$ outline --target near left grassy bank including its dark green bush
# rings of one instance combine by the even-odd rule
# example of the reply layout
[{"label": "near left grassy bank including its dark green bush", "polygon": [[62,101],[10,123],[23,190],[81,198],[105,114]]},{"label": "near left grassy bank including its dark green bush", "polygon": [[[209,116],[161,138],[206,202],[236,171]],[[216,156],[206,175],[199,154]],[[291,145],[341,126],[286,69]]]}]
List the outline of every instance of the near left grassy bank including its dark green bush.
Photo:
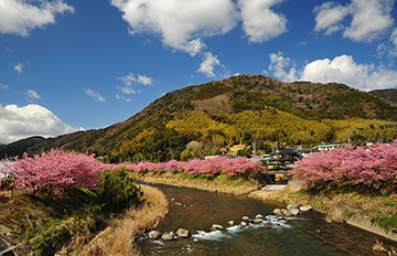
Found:
[{"label": "near left grassy bank including its dark green bush", "polygon": [[[168,212],[157,189],[104,172],[97,191],[0,194],[0,236],[19,255],[133,255],[133,238]],[[128,178],[129,180],[130,178]],[[117,183],[115,183],[117,182]],[[122,183],[125,182],[125,183]],[[121,185],[120,185],[121,184]]]}]

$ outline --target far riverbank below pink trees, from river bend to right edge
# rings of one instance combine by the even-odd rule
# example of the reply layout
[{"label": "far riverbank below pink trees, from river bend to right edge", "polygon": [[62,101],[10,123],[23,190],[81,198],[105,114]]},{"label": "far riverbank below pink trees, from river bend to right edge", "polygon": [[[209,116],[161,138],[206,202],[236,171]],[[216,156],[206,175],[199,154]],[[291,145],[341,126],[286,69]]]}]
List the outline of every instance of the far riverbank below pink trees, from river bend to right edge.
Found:
[{"label": "far riverbank below pink trees, from river bend to right edge", "polygon": [[283,190],[260,190],[262,186],[255,180],[230,182],[227,179],[195,180],[185,179],[182,173],[132,173],[135,179],[144,182],[164,183],[187,186],[212,192],[247,194],[262,201],[277,201],[286,204],[312,205],[314,211],[325,214],[326,223],[347,223],[368,232],[397,242],[397,234],[386,217],[397,215],[397,195],[369,195],[358,193],[309,194],[301,190],[302,182],[289,182]]}]

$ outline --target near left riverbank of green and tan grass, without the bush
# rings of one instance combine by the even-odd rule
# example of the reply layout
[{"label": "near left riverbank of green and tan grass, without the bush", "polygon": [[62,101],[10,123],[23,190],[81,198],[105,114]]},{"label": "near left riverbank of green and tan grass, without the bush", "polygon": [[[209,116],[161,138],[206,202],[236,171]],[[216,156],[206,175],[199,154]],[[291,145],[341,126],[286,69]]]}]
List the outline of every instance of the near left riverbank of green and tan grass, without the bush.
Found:
[{"label": "near left riverbank of green and tan grass, without the bush", "polygon": [[42,255],[37,248],[45,248],[45,255],[139,255],[135,237],[154,228],[168,213],[161,191],[140,188],[143,196],[137,207],[109,215],[79,192],[61,201],[47,195],[2,195],[0,238],[14,246],[18,255]]}]

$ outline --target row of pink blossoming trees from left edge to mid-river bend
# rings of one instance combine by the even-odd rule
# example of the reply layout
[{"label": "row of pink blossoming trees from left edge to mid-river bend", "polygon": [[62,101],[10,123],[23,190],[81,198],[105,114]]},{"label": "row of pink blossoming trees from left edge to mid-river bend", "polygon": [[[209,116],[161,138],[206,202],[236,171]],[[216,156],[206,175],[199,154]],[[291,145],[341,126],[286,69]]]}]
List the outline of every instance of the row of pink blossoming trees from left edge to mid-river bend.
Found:
[{"label": "row of pink blossoming trees from left edge to mid-river bend", "polygon": [[[30,158],[3,160],[0,172],[10,177],[11,186],[17,190],[46,192],[62,195],[64,191],[78,189],[96,190],[100,185],[98,177],[105,170],[114,170],[122,164],[105,164],[94,154],[53,149]],[[169,162],[127,164],[129,171],[185,171],[192,177],[214,178],[219,174],[237,177],[265,172],[265,167],[248,161],[246,158],[228,159],[225,157],[189,162],[171,160]],[[1,186],[1,180],[0,180]]]}]

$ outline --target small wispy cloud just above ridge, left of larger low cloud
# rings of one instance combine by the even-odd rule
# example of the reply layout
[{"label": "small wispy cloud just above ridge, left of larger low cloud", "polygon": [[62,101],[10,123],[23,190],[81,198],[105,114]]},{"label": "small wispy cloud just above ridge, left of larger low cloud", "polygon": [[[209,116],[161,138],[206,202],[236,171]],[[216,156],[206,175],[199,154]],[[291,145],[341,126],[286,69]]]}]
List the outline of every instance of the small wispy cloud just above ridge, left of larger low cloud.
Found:
[{"label": "small wispy cloud just above ridge, left of larger low cloud", "polygon": [[[288,72],[286,68],[292,66]],[[293,82],[297,81],[297,70],[294,64],[291,62],[289,57],[283,57],[281,52],[270,53],[270,64],[268,66],[269,71],[273,73],[273,75],[283,81],[283,82]],[[266,71],[264,71],[266,73]]]}]

